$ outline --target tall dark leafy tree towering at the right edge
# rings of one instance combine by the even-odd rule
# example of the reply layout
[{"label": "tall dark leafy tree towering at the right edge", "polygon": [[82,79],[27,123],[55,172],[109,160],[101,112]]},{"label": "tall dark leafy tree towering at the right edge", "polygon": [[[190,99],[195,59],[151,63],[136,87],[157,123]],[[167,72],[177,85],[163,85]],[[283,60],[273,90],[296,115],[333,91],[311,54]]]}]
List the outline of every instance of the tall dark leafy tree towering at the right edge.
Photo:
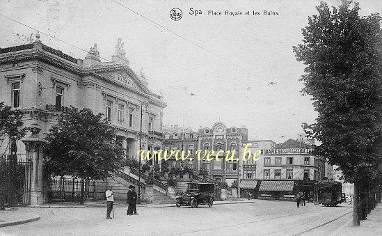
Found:
[{"label": "tall dark leafy tree towering at the right edge", "polygon": [[345,0],[338,9],[321,2],[317,10],[303,29],[303,43],[294,47],[307,65],[302,93],[312,96],[319,113],[317,123],[304,128],[322,143],[316,155],[354,183],[353,226],[359,226],[360,188],[381,173],[381,17],[360,17],[358,3],[351,8]]}]

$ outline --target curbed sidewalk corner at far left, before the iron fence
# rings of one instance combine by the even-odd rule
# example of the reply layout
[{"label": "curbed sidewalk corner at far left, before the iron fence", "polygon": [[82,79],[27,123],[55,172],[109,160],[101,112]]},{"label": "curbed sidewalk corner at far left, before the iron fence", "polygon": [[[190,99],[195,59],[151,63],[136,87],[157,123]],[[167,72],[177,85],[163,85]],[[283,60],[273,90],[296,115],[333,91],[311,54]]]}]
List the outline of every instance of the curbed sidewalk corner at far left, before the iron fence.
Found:
[{"label": "curbed sidewalk corner at far left, before the iron fence", "polygon": [[23,210],[0,211],[0,228],[38,221],[39,219],[37,214],[25,213]]}]

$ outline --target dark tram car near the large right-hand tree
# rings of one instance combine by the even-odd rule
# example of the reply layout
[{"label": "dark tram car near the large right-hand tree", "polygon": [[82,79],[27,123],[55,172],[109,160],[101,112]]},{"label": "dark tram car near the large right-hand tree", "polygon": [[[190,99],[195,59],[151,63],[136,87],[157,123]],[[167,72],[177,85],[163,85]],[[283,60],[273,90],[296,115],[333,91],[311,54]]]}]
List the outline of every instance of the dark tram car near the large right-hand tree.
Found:
[{"label": "dark tram car near the large right-hand tree", "polygon": [[315,203],[334,207],[342,203],[342,183],[321,181],[315,184]]}]

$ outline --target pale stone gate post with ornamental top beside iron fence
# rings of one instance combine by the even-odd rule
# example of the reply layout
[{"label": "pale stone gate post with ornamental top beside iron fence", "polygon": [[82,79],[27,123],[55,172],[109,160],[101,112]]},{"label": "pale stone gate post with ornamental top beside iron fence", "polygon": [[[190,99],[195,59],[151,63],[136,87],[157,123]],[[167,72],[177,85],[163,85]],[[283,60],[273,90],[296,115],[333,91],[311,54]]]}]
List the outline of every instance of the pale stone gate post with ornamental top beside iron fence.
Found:
[{"label": "pale stone gate post with ornamental top beside iron fence", "polygon": [[35,126],[29,128],[32,133],[31,136],[22,141],[25,144],[26,160],[32,162],[31,172],[28,173],[31,180],[31,189],[29,189],[31,205],[42,205],[45,202],[42,194],[44,184],[42,180],[42,162],[45,156],[43,144],[45,141],[38,136],[41,129],[36,127],[36,124],[32,125]]}]

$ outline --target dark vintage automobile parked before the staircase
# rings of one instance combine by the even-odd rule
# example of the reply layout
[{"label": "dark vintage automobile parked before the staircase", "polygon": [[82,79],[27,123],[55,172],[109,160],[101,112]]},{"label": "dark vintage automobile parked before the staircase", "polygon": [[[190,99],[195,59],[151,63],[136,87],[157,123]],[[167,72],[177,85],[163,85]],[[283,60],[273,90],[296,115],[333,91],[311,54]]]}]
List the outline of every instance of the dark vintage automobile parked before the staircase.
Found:
[{"label": "dark vintage automobile parked before the staircase", "polygon": [[187,183],[187,191],[178,194],[177,207],[181,205],[191,205],[192,208],[198,205],[208,205],[212,207],[214,204],[214,184],[209,183]]}]

